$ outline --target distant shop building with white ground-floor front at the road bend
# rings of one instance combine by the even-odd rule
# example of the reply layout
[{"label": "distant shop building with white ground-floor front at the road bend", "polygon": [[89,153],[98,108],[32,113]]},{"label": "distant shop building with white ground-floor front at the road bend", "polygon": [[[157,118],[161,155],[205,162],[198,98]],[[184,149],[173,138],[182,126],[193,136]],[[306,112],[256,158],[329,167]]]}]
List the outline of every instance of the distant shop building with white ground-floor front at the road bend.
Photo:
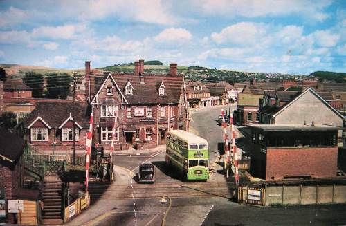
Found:
[{"label": "distant shop building with white ground-floor front at the road bend", "polygon": [[212,96],[203,82],[186,82],[186,97],[192,109],[219,105],[219,96]]}]

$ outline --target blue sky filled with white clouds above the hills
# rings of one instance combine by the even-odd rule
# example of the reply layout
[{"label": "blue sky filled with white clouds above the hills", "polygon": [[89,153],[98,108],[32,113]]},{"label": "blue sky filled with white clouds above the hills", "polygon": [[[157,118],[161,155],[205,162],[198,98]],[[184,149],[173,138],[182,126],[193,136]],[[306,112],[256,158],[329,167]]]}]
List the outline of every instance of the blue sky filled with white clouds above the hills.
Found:
[{"label": "blue sky filled with white clouds above the hills", "polygon": [[346,73],[346,1],[0,0],[0,64]]}]

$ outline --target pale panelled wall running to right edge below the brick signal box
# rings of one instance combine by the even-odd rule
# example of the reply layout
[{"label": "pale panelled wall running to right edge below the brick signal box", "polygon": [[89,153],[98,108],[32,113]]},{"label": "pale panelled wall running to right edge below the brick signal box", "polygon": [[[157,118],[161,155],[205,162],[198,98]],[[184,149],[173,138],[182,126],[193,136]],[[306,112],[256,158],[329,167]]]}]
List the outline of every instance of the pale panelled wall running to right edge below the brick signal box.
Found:
[{"label": "pale panelled wall running to right edge below the brick signal box", "polygon": [[346,203],[346,185],[295,185],[266,187],[265,205]]}]

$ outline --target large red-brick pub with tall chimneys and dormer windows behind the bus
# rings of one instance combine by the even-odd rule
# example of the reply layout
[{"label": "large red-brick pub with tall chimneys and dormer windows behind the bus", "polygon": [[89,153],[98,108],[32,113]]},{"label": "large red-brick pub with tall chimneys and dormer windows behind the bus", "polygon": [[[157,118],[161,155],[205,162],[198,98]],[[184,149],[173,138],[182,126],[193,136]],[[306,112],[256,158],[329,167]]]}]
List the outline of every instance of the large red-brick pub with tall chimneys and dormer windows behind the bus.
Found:
[{"label": "large red-brick pub with tall chimneys and dormer windows behind the bus", "polygon": [[165,144],[170,129],[186,129],[184,77],[170,64],[168,75],[144,73],[144,60],[135,62],[133,74],[90,73],[86,62],[86,99],[94,113],[95,144],[110,149],[137,149]]}]

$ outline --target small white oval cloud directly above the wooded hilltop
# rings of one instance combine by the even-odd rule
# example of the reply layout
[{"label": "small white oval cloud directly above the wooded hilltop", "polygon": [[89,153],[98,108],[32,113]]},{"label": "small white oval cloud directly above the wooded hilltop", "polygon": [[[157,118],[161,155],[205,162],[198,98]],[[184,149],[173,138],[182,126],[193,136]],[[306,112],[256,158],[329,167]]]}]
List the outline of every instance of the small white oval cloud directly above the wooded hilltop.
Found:
[{"label": "small white oval cloud directly above the wooded hilltop", "polygon": [[191,33],[184,28],[167,28],[154,37],[157,42],[170,44],[185,44],[191,39]]}]

